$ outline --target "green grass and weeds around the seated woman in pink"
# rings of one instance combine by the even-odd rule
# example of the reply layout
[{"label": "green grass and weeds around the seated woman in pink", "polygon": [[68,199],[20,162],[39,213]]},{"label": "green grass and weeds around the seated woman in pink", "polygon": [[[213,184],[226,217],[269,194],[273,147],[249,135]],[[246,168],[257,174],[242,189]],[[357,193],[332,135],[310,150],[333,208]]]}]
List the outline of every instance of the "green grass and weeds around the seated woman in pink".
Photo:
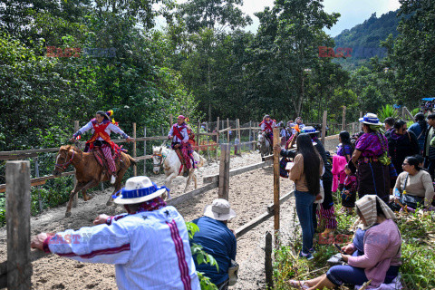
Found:
[{"label": "green grass and weeds around the seated woman in pink", "polygon": [[[334,197],[335,212],[338,227],[337,235],[353,234],[350,228],[356,221],[356,214],[347,216],[340,213],[342,208],[338,198]],[[396,219],[397,226],[401,230],[403,244],[401,247],[401,284],[403,289],[434,289],[435,288],[435,223],[434,213],[414,213],[400,215]],[[319,228],[322,230],[322,228]],[[294,228],[295,237],[289,245],[281,245],[275,249],[274,282],[275,290],[291,289],[285,282],[289,279],[306,280],[326,273],[328,264],[326,261],[337,253],[333,245],[316,244],[314,259],[306,261],[298,259],[296,253],[302,247],[302,235],[300,227]],[[338,244],[341,240],[335,238]],[[342,286],[341,289],[347,289]]]}]

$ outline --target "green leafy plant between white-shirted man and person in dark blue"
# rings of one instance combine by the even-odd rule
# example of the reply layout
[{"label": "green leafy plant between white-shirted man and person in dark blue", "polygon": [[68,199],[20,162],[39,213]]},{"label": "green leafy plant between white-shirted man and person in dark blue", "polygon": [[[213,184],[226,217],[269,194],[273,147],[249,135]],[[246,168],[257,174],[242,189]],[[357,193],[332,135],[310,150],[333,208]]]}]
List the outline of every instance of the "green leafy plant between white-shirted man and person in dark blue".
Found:
[{"label": "green leafy plant between white-shirted man and person in dark blue", "polygon": [[[216,259],[206,253],[201,246],[191,242],[193,236],[195,236],[195,233],[199,231],[199,227],[192,222],[186,222],[186,227],[188,227],[190,251],[192,252],[192,256],[194,258],[197,258],[198,265],[207,263],[210,266],[216,266],[216,268],[219,270],[218,262],[216,261]],[[218,287],[210,281],[210,278],[208,276],[204,275],[204,273],[202,272],[197,272],[197,274],[202,290],[218,290]]]}]

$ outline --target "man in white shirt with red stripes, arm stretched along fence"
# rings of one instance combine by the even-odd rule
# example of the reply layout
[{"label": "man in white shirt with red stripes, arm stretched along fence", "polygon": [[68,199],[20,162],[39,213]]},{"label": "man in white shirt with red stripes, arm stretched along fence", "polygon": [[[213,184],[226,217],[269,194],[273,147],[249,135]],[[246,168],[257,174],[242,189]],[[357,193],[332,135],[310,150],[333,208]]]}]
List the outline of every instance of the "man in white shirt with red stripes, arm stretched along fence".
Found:
[{"label": "man in white shirt with red stripes, arm stretched along fence", "polygon": [[100,215],[94,227],[39,234],[32,247],[81,262],[115,264],[119,289],[199,290],[188,230],[177,209],[160,198],[166,191],[148,177],[128,179],[114,199],[127,214]]}]

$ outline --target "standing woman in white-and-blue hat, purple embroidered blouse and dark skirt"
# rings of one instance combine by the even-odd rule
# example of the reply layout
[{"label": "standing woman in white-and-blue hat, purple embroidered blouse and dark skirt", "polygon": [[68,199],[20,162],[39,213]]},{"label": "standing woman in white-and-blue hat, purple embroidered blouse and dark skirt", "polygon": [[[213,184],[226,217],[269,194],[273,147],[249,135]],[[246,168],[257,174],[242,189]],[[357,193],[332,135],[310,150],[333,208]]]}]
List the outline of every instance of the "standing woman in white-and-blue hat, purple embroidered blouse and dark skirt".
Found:
[{"label": "standing woman in white-and-blue hat, purple embroidered blouse and dark skirt", "polygon": [[352,161],[358,167],[358,196],[375,194],[389,201],[390,169],[388,142],[382,135],[378,116],[367,113],[360,119],[364,133],[357,140]]}]

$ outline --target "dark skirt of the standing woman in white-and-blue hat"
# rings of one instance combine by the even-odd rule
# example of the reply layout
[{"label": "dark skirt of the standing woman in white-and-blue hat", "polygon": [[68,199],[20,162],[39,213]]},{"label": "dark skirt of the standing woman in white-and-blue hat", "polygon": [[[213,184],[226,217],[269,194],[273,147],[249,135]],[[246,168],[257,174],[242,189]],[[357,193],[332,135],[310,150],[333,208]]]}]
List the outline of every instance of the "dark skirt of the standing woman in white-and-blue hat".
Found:
[{"label": "dark skirt of the standing woman in white-and-blue hat", "polygon": [[390,196],[390,169],[379,161],[359,162],[358,196],[375,194],[388,202]]}]

